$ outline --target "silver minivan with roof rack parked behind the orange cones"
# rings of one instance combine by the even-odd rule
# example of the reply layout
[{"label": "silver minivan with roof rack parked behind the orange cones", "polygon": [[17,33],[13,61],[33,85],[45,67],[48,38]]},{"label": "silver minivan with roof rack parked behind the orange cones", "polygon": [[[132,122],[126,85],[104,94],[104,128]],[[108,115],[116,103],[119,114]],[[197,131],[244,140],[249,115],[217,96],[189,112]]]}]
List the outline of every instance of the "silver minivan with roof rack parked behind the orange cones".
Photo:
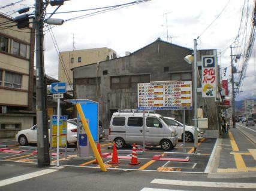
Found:
[{"label": "silver minivan with roof rack parked behind the orange cones", "polygon": [[[176,146],[178,137],[176,128],[167,125],[165,119],[156,113],[146,113],[145,144],[160,145],[163,150]],[[129,144],[143,144],[143,113],[116,112],[110,121],[109,140],[115,141],[121,149]]]}]

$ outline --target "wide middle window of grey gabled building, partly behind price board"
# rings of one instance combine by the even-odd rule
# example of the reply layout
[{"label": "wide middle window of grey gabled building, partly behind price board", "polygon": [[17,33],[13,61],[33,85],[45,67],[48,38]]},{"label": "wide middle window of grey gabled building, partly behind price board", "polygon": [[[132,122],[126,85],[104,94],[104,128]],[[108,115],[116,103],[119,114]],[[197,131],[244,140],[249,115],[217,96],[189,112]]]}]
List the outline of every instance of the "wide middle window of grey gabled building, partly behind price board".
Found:
[{"label": "wide middle window of grey gabled building, partly behind price board", "polygon": [[112,76],[111,89],[137,88],[138,83],[150,82],[150,75]]}]

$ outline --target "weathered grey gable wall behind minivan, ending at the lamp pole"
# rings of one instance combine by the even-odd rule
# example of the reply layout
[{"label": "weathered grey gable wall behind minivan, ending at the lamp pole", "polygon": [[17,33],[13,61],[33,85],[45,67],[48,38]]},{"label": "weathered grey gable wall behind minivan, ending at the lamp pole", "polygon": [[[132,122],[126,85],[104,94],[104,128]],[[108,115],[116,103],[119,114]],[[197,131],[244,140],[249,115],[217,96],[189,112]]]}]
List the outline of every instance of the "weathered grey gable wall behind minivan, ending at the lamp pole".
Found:
[{"label": "weathered grey gable wall behind minivan, ending at the lamp pole", "polygon": [[[88,98],[100,102],[100,118],[104,128],[109,127],[112,112],[118,109],[137,108],[137,84],[129,88],[113,89],[111,80],[116,76],[144,75],[149,76],[148,81],[170,81],[174,73],[192,72],[191,65],[183,60],[192,50],[156,41],[135,53],[115,60],[89,64],[73,69],[75,91],[77,98]],[[168,71],[164,67],[168,67]],[[98,83],[85,79],[95,78],[98,70]],[[106,74],[107,71],[107,74]],[[105,75],[103,74],[105,73]],[[191,80],[191,79],[190,79]],[[98,88],[97,88],[98,84]],[[98,91],[97,91],[98,90]],[[182,120],[182,111],[159,110],[165,116],[174,116]],[[191,111],[186,112],[186,119],[191,123]]]}]

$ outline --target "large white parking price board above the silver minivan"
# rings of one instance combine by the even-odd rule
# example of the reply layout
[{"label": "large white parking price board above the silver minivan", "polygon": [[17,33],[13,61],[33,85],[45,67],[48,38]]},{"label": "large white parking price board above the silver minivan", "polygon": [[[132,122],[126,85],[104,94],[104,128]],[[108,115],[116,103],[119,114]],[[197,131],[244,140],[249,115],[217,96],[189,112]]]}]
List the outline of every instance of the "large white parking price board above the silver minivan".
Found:
[{"label": "large white parking price board above the silver minivan", "polygon": [[165,81],[138,84],[140,110],[191,110],[192,82]]}]

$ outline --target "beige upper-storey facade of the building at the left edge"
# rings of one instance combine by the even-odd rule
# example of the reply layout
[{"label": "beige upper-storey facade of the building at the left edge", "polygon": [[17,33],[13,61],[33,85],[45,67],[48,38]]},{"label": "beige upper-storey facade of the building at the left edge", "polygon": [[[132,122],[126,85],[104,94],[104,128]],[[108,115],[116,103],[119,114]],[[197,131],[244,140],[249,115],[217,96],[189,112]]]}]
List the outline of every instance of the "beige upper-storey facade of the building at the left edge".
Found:
[{"label": "beige upper-storey facade of the building at the left edge", "polygon": [[[0,22],[10,21],[8,17],[2,16],[0,14]],[[16,23],[11,23],[16,24]],[[9,23],[10,25],[10,23]],[[34,51],[31,51],[31,43],[34,47],[34,38],[33,30],[31,29],[17,29],[13,27],[12,29],[1,29],[0,36],[1,38],[6,39],[7,48],[4,50],[0,50],[1,61],[0,61],[0,72],[2,77],[0,79],[0,106],[22,106],[27,110],[29,107],[29,103],[32,103],[32,92],[29,87],[29,79],[32,78],[30,73],[31,67],[33,67],[34,63]],[[19,32],[21,31],[21,32]],[[32,34],[33,33],[33,34]],[[25,50],[23,53],[19,51],[19,55],[14,53],[15,45],[19,45],[20,50]],[[19,85],[7,85],[7,73],[15,73],[15,75],[19,75],[21,81],[19,81]],[[29,93],[31,94],[29,96]]]}]

